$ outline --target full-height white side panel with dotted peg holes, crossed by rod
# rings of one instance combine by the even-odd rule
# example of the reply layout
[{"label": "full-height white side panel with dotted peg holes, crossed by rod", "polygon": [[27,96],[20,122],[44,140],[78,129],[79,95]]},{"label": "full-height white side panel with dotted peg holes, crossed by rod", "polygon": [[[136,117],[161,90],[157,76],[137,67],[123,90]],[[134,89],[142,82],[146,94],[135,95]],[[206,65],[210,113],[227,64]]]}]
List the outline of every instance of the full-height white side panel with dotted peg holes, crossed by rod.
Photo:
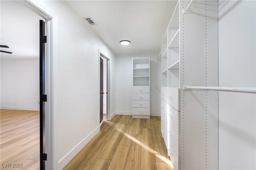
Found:
[{"label": "full-height white side panel with dotted peg holes, crossed by rod", "polygon": [[[218,1],[180,1],[180,87],[218,86]],[[218,169],[218,93],[180,92],[180,169]],[[184,144],[184,145],[183,145]]]}]

